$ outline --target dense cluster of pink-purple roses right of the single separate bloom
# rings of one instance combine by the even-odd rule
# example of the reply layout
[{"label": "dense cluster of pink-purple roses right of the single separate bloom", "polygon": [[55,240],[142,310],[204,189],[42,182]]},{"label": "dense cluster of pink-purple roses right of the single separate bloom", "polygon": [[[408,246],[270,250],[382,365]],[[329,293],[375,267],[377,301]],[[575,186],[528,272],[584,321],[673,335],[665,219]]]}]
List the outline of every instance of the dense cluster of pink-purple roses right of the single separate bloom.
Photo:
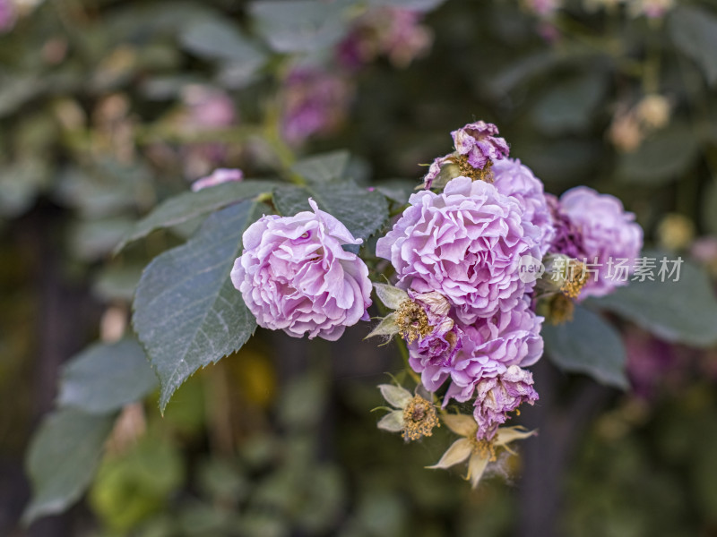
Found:
[{"label": "dense cluster of pink-purple roses right of the single separate bloom", "polygon": [[[642,231],[617,199],[584,187],[547,197],[530,168],[507,158],[497,134],[484,122],[452,132],[455,152],[436,158],[426,190],[376,244],[396,286],[426,313],[429,328],[409,339],[410,366],[431,391],[448,383],[444,405],[472,399],[478,439],[488,441],[508,413],[538,398],[524,368],[543,352],[543,318],[534,312],[535,282],[520,277],[521,259],[635,259],[642,246]],[[436,183],[443,192],[429,190]],[[586,294],[615,285],[600,274]]]}]

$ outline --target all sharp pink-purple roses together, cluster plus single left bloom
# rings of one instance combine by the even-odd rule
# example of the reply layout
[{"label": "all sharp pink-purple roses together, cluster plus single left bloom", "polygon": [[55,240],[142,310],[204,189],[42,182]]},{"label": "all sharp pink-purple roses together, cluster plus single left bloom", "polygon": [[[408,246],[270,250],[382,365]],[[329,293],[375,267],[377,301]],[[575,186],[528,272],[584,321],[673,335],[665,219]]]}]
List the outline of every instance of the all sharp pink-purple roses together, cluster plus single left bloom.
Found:
[{"label": "all sharp pink-purple roses together, cluster plus single left bloom", "polygon": [[[484,122],[452,132],[454,153],[436,159],[425,189],[376,243],[408,297],[395,319],[410,367],[428,390],[446,387],[444,405],[472,401],[477,438],[488,442],[508,413],[538,399],[525,368],[542,355],[544,319],[535,281],[520,277],[523,258],[634,260],[642,247],[641,228],[617,199],[584,187],[559,200],[545,194],[497,134]],[[342,248],[361,240],[309,203],[313,211],[249,226],[231,279],[259,326],[335,340],[367,320],[369,271]],[[599,273],[581,286],[602,295],[619,283]]]}]

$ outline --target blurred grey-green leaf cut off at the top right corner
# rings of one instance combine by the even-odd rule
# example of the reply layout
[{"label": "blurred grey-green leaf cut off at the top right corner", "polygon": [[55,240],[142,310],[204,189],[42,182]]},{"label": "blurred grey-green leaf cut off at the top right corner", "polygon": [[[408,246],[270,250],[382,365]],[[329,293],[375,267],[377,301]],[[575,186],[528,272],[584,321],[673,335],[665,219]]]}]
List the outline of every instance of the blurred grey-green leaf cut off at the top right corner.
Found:
[{"label": "blurred grey-green leaf cut off at the top right corner", "polygon": [[668,29],[675,47],[692,58],[714,86],[717,83],[717,17],[695,5],[680,6],[669,16]]}]

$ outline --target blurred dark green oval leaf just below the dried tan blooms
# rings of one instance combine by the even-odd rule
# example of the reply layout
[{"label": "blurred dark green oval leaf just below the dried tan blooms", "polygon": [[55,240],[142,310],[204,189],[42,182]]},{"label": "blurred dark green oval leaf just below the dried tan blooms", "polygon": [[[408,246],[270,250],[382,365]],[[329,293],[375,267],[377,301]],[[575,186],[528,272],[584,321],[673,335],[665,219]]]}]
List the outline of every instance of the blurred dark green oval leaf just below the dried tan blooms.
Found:
[{"label": "blurred dark green oval leaf just below the dried tan blooms", "polygon": [[661,186],[677,179],[695,161],[699,144],[687,125],[670,125],[618,160],[624,183]]}]

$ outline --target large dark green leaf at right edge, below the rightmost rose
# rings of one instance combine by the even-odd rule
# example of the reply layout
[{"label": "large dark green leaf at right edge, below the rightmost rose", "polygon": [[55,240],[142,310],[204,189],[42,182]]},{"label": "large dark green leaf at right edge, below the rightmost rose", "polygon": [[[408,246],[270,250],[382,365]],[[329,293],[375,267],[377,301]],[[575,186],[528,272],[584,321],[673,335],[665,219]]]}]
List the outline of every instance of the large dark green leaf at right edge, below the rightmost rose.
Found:
[{"label": "large dark green leaf at right edge, below the rightmost rose", "polygon": [[[657,258],[660,268],[661,254],[646,252],[644,256]],[[695,346],[717,343],[717,300],[707,275],[684,261],[679,280],[666,279],[630,282],[608,296],[592,299],[592,303],[667,341]]]}]

